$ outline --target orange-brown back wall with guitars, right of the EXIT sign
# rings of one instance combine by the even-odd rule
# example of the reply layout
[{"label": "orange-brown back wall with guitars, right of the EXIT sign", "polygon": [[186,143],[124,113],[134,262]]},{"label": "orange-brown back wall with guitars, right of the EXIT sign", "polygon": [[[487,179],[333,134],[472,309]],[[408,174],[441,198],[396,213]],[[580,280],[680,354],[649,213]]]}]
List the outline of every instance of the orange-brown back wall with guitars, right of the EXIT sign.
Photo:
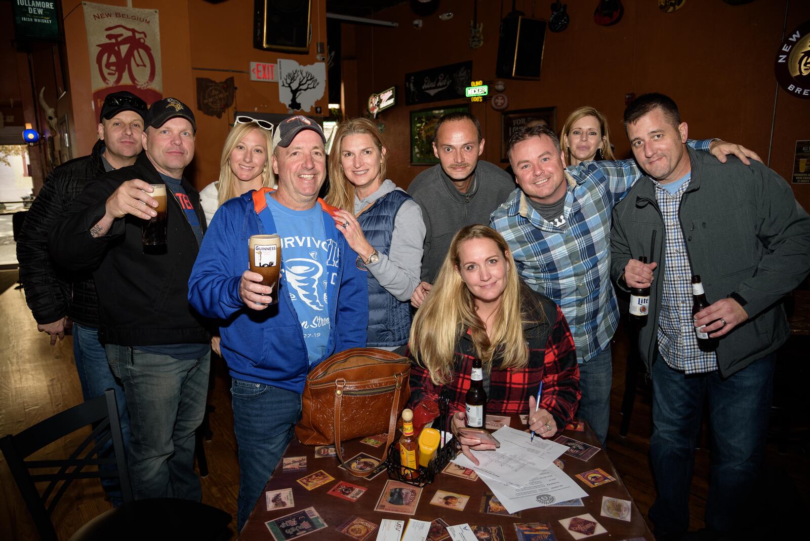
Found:
[{"label": "orange-brown back wall with guitars, right of the EXIT sign", "polygon": [[[657,2],[624,0],[624,18],[612,27],[594,23],[595,1],[567,2],[571,23],[564,32],[547,33],[541,80],[505,80],[509,110],[556,106],[559,130],[573,109],[592,105],[608,117],[616,154],[629,157],[621,126],[625,94],[664,92],[678,103],[690,137],[744,143],[764,160],[774,120],[770,167],[790,179],[795,141],[810,139],[810,100],[776,89],[774,61],[782,40],[786,1],[759,0],[744,6],[720,0],[693,1],[665,14]],[[531,16],[531,4],[518,0],[518,10]],[[550,15],[548,2],[535,2],[535,6],[538,18]],[[353,40],[344,38],[343,44],[356,53],[356,60],[343,55],[344,67],[356,69],[357,74],[356,95],[347,96],[347,114],[363,113],[360,108],[370,93],[399,85],[401,104],[378,117],[386,126],[391,150],[389,176],[399,185],[407,186],[424,169],[409,163],[408,123],[409,109],[428,107],[404,106],[403,75],[471,59],[475,79],[495,77],[501,2],[479,0],[478,7],[479,21],[484,22],[480,49],[467,45],[471,2],[442,0],[437,13],[454,11],[454,18],[443,22],[437,15],[425,17],[421,30],[413,28],[411,22],[417,17],[407,3],[376,15],[398,22],[399,28],[343,25],[344,36],[355,34]],[[810,2],[791,0],[787,32],[808,19]],[[489,102],[471,104],[471,112],[484,128],[483,159],[500,164],[501,113]],[[799,202],[810,209],[810,186],[793,188]]]}]

